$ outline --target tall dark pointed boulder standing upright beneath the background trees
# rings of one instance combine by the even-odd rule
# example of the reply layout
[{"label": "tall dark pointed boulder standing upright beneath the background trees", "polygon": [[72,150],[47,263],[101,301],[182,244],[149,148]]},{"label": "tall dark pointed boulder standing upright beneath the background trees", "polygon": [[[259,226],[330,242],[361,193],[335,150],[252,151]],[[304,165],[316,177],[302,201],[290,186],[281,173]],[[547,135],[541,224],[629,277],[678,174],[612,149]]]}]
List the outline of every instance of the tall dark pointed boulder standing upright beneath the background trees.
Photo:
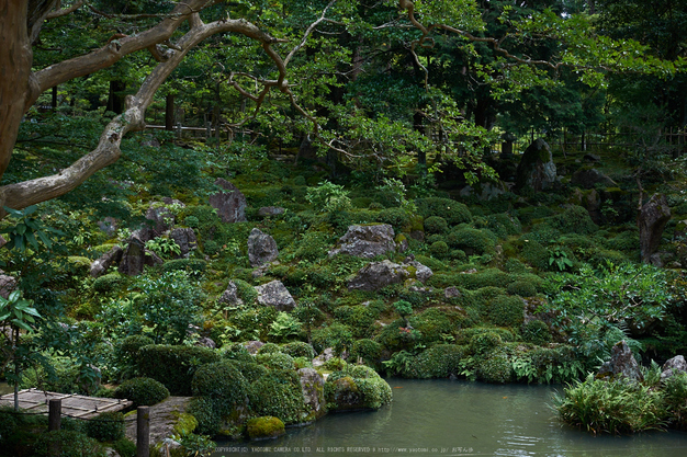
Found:
[{"label": "tall dark pointed boulder standing upright beneath the background trees", "polygon": [[551,187],[558,180],[551,148],[541,138],[532,142],[522,153],[516,173],[516,192],[532,187],[536,192]]}]

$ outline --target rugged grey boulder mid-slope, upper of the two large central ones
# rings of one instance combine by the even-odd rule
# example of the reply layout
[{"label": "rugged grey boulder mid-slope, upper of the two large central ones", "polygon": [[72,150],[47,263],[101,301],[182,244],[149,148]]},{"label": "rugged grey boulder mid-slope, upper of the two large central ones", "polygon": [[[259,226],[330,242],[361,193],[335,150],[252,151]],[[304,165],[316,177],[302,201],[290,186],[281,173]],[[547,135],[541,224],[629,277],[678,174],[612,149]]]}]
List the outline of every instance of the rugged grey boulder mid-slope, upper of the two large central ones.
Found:
[{"label": "rugged grey boulder mid-slope, upper of the two large central ones", "polygon": [[329,255],[346,253],[357,258],[372,259],[396,250],[394,229],[388,224],[350,226],[339,239],[339,247]]}]

